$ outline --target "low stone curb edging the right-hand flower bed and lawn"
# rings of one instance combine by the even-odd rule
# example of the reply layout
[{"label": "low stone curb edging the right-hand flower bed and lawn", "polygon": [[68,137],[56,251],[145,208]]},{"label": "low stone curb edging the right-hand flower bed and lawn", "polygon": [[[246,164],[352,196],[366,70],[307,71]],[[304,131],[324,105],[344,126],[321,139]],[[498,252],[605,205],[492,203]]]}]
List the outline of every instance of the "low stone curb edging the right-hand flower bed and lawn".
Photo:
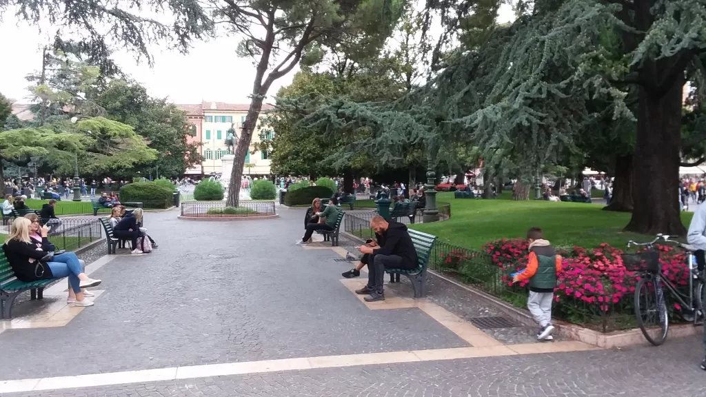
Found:
[{"label": "low stone curb edging the right-hand flower bed and lawn", "polygon": [[[361,243],[364,242],[363,239],[351,235],[348,232],[343,231],[342,233],[344,233],[349,239],[353,239],[354,241]],[[509,316],[515,321],[520,322],[520,324],[524,324],[526,326],[537,326],[537,323],[534,321],[532,315],[527,310],[514,307],[511,304],[498,300],[498,298],[493,297],[492,295],[489,295],[486,292],[476,290],[472,287],[459,283],[456,280],[452,280],[446,277],[445,275],[438,273],[437,271],[433,271],[431,269],[427,269],[427,271],[429,271],[429,273],[435,275],[436,277],[447,281],[448,283],[452,283],[457,287],[463,288],[467,292],[470,292],[472,295],[474,295],[474,297],[477,297],[479,300],[484,301],[484,303],[486,304],[490,304],[493,307],[496,307],[498,310],[503,312],[503,314]],[[578,340],[579,342],[598,346],[599,348],[623,348],[632,345],[649,345],[649,342],[647,342],[645,336],[642,335],[642,331],[640,331],[640,328],[633,328],[626,331],[613,331],[609,333],[602,333],[599,331],[594,331],[590,328],[579,326],[577,324],[571,324],[566,321],[554,321],[554,326],[556,326],[556,332],[558,332],[559,335],[563,336],[564,338]],[[672,336],[673,338],[681,338],[683,336],[696,335],[699,333],[699,328],[702,327],[695,327],[693,326],[693,324],[670,325],[669,336]]]}]

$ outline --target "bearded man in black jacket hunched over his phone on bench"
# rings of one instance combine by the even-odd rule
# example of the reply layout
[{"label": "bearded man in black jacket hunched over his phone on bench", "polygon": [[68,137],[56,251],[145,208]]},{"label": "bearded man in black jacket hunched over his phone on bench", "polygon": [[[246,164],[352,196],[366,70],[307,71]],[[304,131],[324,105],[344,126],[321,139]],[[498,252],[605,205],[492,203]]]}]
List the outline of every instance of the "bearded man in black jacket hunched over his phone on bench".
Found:
[{"label": "bearded man in black jacket hunched over his phone on bench", "polygon": [[369,255],[368,285],[356,290],[358,295],[370,295],[364,298],[366,302],[385,300],[383,280],[385,268],[409,269],[417,268],[417,250],[414,249],[412,237],[409,237],[407,226],[399,222],[388,222],[380,215],[373,216],[370,227],[380,235],[379,247],[364,245],[358,250]]}]

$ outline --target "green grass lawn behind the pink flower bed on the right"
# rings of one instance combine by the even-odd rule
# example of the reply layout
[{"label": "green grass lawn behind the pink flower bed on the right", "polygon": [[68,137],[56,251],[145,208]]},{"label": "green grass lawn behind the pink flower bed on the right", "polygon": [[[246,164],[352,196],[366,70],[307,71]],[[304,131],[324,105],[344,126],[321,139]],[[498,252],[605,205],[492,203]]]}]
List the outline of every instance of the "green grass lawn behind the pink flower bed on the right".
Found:
[{"label": "green grass lawn behind the pink flower bed on the right", "polygon": [[[505,193],[505,192],[503,192]],[[507,192],[509,193],[509,192]],[[650,241],[652,237],[623,232],[629,213],[602,211],[602,205],[556,203],[553,201],[474,200],[453,198],[453,192],[436,195],[438,201],[451,203],[451,218],[438,223],[414,225],[422,232],[437,235],[443,241],[478,249],[503,237],[525,237],[532,226],[542,227],[544,237],[555,246],[597,247],[607,242],[624,247],[628,240]],[[682,213],[688,227],[692,213]]]}]

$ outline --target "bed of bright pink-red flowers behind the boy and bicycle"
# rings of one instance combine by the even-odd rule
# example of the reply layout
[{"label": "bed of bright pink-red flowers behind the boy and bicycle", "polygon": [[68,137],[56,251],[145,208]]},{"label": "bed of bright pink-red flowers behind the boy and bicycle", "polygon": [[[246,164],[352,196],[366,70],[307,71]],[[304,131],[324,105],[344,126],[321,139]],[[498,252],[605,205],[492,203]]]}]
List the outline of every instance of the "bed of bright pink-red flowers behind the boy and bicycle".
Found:
[{"label": "bed of bright pink-red flowers behind the boy and bicycle", "polygon": [[[523,239],[489,242],[481,251],[441,243],[434,268],[455,273],[475,288],[517,307],[526,307],[529,281],[513,284],[510,273],[527,265],[527,247]],[[687,286],[686,255],[673,247],[658,249],[664,277],[678,287]],[[634,292],[639,276],[623,266],[621,249],[601,244],[595,249],[556,247],[556,250],[563,261],[554,290],[554,316],[602,332],[636,327]],[[664,296],[671,320],[682,321],[678,304],[671,302],[668,294]]]}]

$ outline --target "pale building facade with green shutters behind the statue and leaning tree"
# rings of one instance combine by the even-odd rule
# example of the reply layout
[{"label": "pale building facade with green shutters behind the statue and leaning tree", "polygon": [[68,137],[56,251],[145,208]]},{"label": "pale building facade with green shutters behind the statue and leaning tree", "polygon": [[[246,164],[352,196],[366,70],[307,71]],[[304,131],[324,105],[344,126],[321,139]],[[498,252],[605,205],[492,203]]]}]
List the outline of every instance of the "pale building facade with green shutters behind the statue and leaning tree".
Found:
[{"label": "pale building facade with green shutters behind the statue and leaning tree", "polygon": [[[199,151],[204,160],[201,165],[186,170],[186,174],[220,174],[222,172],[221,158],[227,153],[225,139],[231,126],[237,137],[243,132],[243,124],[248,114],[249,105],[239,105],[225,102],[201,102],[201,105],[177,105],[186,112],[194,129],[188,140],[201,143]],[[263,105],[263,112],[272,109]],[[243,174],[269,175],[270,156],[267,151],[259,150],[261,141],[261,124],[258,121],[250,141],[248,154],[243,164]],[[267,132],[266,134],[272,134]],[[271,138],[271,137],[269,137]],[[237,138],[236,138],[237,143]]]}]

